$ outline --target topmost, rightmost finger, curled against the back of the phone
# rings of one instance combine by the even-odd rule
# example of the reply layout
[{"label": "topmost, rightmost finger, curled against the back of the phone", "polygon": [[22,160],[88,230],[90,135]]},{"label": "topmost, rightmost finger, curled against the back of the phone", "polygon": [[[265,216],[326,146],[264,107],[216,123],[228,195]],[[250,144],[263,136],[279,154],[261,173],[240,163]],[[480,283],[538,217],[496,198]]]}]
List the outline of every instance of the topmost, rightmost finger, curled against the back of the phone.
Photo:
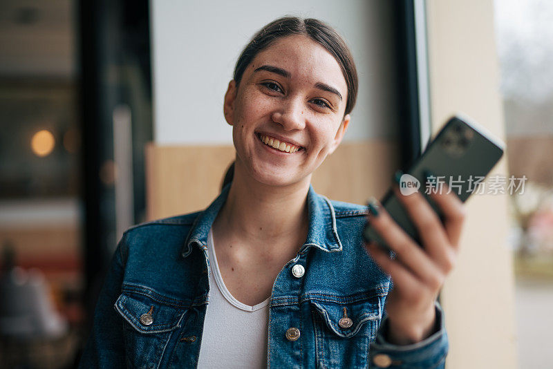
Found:
[{"label": "topmost, rightmost finger, curled against the back of the phone", "polygon": [[445,183],[437,191],[430,191],[430,198],[440,207],[444,214],[444,227],[451,246],[458,250],[462,226],[467,211],[455,191],[450,191]]}]

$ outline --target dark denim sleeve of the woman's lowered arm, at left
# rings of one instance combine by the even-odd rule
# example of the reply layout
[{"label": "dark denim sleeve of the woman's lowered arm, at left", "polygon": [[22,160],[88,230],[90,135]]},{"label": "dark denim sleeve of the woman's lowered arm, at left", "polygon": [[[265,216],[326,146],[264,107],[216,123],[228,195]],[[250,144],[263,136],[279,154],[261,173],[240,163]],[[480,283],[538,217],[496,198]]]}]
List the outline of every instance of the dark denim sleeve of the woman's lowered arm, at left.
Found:
[{"label": "dark denim sleeve of the woman's lowered arm, at left", "polygon": [[124,274],[124,240],[120,240],[94,312],[91,334],[84,348],[79,368],[124,368],[125,350],[123,321],[115,310],[115,301],[121,293]]}]

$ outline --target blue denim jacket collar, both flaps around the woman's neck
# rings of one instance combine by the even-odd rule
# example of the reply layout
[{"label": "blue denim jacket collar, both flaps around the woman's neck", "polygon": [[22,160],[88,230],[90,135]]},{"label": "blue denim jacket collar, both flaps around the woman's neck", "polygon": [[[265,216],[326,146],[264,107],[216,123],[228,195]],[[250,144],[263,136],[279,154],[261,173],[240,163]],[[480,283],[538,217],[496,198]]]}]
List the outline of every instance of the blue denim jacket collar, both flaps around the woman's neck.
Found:
[{"label": "blue denim jacket collar, both flaps around the woman's neck", "polygon": [[[223,204],[227,200],[230,184],[225,186],[219,196],[212,202],[205,211],[202,211],[192,225],[185,246],[182,248],[182,257],[187,257],[194,244],[199,247],[207,245],[207,234]],[[307,196],[309,230],[306,239],[299,252],[308,247],[317,247],[326,252],[341,251],[341,242],[336,228],[336,216],[332,203],[325,196],[315,192],[312,185],[309,185]]]}]

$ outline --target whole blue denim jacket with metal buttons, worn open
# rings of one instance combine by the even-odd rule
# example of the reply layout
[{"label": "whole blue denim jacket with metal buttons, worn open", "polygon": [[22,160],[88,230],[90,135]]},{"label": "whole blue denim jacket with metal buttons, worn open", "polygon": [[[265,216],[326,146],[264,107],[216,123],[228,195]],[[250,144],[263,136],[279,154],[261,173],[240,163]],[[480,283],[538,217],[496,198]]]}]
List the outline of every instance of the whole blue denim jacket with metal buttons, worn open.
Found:
[{"label": "whole blue denim jacket with metal buttons, worn open", "polygon": [[[80,368],[196,367],[209,303],[207,234],[228,191],[205,211],[124,232]],[[431,337],[407,346],[384,337],[391,285],[363,247],[367,208],[330,201],[310,186],[308,214],[306,243],[272,287],[268,367],[444,368],[448,341],[439,305]],[[301,276],[292,274],[297,264]]]}]

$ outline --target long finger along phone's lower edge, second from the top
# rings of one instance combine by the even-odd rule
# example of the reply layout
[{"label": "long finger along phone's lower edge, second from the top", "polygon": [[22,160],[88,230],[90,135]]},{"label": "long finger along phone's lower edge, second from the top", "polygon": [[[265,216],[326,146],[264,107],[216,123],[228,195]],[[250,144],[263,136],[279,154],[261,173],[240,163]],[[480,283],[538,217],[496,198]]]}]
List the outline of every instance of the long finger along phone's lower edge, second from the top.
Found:
[{"label": "long finger along phone's lower edge, second from the top", "polygon": [[451,241],[438,214],[422,193],[415,191],[410,195],[402,195],[397,185],[393,186],[393,191],[417,228],[424,250],[443,272],[449,272],[455,264],[456,252],[451,247]]}]

